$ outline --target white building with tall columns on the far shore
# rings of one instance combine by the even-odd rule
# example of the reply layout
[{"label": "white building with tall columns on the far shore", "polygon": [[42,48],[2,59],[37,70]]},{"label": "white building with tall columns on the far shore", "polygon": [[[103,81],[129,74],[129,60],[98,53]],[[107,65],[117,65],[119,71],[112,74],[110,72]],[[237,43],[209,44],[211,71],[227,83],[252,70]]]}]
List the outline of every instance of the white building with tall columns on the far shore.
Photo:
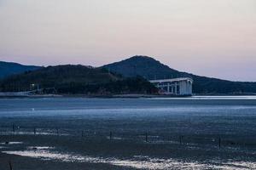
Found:
[{"label": "white building with tall columns on the far shore", "polygon": [[171,95],[192,95],[193,80],[189,77],[150,80],[162,94]]}]

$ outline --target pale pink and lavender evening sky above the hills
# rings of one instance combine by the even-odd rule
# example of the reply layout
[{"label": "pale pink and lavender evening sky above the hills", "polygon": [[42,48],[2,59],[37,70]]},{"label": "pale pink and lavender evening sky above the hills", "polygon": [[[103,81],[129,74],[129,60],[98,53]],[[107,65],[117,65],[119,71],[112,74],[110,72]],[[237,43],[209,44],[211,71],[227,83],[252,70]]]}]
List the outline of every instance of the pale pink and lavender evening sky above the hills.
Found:
[{"label": "pale pink and lavender evening sky above the hills", "polygon": [[256,82],[256,1],[0,0],[0,60],[99,66],[133,55]]}]

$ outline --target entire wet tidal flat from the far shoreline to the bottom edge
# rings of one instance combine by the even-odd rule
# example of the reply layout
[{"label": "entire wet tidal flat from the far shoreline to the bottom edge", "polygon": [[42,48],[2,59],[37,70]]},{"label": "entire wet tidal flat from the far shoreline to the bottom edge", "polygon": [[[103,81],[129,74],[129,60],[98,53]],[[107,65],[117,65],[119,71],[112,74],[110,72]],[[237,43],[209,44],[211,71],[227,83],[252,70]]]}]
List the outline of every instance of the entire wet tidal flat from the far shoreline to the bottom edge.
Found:
[{"label": "entire wet tidal flat from the far shoreline to the bottom edge", "polygon": [[0,104],[1,170],[256,169],[255,99]]}]

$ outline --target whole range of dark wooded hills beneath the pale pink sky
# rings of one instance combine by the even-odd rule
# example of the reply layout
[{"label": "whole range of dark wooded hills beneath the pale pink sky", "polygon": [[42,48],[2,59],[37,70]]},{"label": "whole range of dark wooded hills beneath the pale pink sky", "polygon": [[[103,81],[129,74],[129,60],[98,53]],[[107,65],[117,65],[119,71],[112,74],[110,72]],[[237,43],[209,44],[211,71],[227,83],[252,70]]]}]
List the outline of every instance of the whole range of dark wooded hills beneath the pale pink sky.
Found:
[{"label": "whole range of dark wooded hills beneath the pale pink sky", "polygon": [[30,84],[38,83],[40,88],[55,88],[61,94],[154,94],[156,89],[144,79],[191,77],[194,94],[256,94],[256,82],[200,77],[174,70],[147,56],[134,56],[102,68],[83,65],[44,68],[0,62],[0,91],[25,91],[31,89]]}]

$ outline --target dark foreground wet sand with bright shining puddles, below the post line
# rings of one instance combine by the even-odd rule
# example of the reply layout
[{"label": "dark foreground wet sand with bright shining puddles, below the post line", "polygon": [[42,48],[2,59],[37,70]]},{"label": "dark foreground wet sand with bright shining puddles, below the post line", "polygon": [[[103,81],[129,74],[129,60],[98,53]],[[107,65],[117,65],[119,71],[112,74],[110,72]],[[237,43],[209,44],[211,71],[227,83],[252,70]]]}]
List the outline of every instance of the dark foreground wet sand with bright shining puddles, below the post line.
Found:
[{"label": "dark foreground wet sand with bright shining puddles, below the post line", "polygon": [[[3,141],[10,141],[4,144]],[[1,169],[253,169],[255,153],[236,147],[160,144],[74,136],[1,135]],[[8,154],[6,154],[8,153]]]}]

